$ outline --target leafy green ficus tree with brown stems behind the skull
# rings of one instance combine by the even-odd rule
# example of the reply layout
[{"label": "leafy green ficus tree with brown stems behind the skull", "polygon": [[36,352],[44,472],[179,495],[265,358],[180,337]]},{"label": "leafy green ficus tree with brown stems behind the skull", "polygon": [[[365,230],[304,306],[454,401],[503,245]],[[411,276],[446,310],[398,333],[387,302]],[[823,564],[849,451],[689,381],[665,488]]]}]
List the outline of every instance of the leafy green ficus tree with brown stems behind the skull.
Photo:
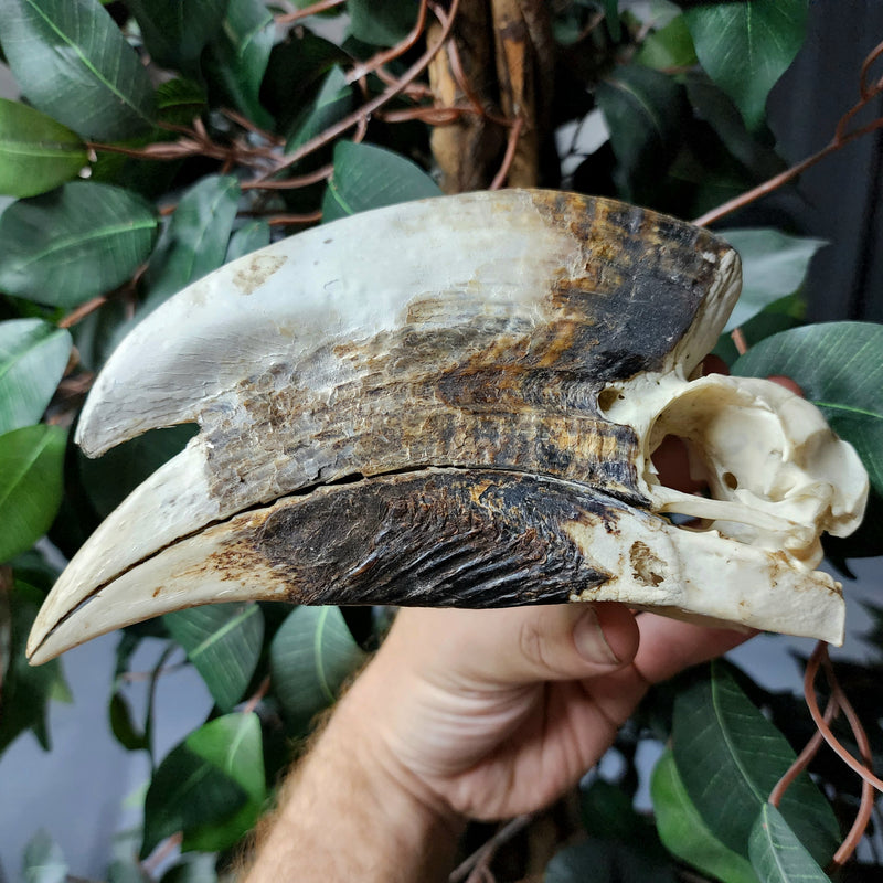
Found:
[{"label": "leafy green ficus tree with brown stems behind the skull", "polygon": [[[45,708],[63,692],[57,663],[31,669],[23,658],[55,576],[34,543],[47,532],[73,555],[193,434],[155,430],[96,461],[66,445],[95,373],[129,329],[285,234],[442,192],[539,184],[720,220],[727,201],[788,185],[881,125],[857,123],[881,94],[874,55],[857,60],[857,108],[844,108],[830,145],[796,169],[777,153],[766,98],[807,14],[807,0],[4,0],[0,46],[21,98],[0,102],[0,189],[14,198],[0,216],[0,748],[28,730],[46,744]],[[576,135],[598,120],[608,136],[588,151]],[[722,233],[742,254],[746,286],[716,351],[734,373],[794,377],[852,442],[874,493],[866,526],[831,552],[840,562],[880,554],[881,329],[805,325],[800,287],[818,240]],[[844,365],[843,352],[863,370]],[[129,857],[109,875],[149,872],[149,853],[179,837],[223,870],[290,759],[280,743],[308,731],[382,632],[383,615],[366,610],[273,604],[198,608],[123,632],[107,683],[124,746],[152,754],[161,713],[136,713],[127,696],[143,641],[160,648],[153,681],[185,659],[215,709],[155,758],[141,864]],[[877,754],[879,698],[850,685],[879,674],[879,661],[840,674]],[[851,823],[843,817],[859,806],[853,775],[820,765],[832,801],[801,774],[777,806],[767,802],[813,728],[802,700],[720,663],[656,691],[620,735],[623,775],[581,789],[585,825],[578,811],[555,817],[560,841],[585,830],[561,851],[545,844],[547,858],[557,853],[546,880],[589,870],[664,880],[684,869],[725,883],[825,879]],[[641,741],[672,733],[653,773],[650,825],[631,806],[634,757]],[[775,751],[754,751],[770,742]],[[726,812],[705,787],[708,769],[726,770]],[[182,778],[203,786],[182,800]],[[524,842],[513,833],[492,865],[498,880],[523,876],[508,863]],[[36,839],[26,862],[46,857],[47,866],[62,861]]]}]

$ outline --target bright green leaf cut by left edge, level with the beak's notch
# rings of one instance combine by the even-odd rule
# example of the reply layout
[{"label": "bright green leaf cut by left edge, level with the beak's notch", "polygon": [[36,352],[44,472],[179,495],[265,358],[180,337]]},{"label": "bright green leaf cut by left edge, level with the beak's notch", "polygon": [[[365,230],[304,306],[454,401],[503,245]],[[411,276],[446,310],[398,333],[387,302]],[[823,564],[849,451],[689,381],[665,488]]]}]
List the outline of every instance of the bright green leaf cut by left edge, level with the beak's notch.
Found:
[{"label": "bright green leaf cut by left edge, level with the beak's notch", "polygon": [[62,500],[67,430],[25,426],[0,435],[0,563],[30,549]]}]

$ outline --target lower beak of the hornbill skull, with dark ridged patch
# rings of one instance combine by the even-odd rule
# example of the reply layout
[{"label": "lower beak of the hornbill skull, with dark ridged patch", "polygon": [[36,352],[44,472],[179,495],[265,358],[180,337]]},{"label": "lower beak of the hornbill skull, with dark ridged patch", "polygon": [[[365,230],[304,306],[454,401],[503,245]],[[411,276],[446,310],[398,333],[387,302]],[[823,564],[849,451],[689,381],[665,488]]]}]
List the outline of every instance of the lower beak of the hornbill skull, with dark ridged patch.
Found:
[{"label": "lower beak of the hornbill skull, with dark ridged patch", "polygon": [[[118,510],[104,535],[125,531],[130,514]],[[624,600],[681,618],[842,639],[842,600],[826,574],[781,567],[772,553],[687,532],[578,482],[497,470],[428,468],[283,498],[109,581],[100,575],[106,551],[103,538],[88,543],[53,589],[29,642],[32,662],[171,610],[245,599]],[[79,597],[84,584],[98,587]]]}]

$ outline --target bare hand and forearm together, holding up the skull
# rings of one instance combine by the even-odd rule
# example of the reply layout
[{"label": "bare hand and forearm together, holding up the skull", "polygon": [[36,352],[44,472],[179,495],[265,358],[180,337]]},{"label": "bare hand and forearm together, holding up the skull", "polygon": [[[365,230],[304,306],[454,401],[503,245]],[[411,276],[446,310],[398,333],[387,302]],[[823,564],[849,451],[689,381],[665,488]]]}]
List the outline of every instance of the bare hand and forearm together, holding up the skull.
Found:
[{"label": "bare hand and forearm together, holding up the skull", "polygon": [[618,604],[403,610],[284,788],[248,883],[444,881],[467,819],[551,804],[651,683],[745,638]]}]

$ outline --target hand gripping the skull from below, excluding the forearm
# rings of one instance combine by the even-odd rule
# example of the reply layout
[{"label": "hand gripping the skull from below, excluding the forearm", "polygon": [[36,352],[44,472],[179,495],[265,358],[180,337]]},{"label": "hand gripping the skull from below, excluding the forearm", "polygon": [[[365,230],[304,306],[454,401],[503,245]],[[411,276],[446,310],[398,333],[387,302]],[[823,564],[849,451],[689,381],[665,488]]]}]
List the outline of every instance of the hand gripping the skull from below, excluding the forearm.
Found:
[{"label": "hand gripping the skull from below, excluding the forearm", "polygon": [[575,784],[651,683],[746,637],[618,604],[407,609],[348,699],[394,780],[443,816],[499,819]]}]

